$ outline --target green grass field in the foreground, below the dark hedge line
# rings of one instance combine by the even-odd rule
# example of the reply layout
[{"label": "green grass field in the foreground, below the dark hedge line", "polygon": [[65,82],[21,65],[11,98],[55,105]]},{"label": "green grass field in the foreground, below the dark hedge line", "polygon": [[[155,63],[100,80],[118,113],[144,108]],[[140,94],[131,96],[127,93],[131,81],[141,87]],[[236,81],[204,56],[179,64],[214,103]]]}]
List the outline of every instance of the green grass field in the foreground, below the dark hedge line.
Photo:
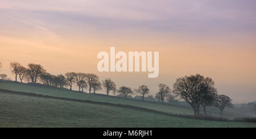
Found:
[{"label": "green grass field in the foreground, below the dark hedge line", "polygon": [[0,92],[0,127],[256,127]]}]

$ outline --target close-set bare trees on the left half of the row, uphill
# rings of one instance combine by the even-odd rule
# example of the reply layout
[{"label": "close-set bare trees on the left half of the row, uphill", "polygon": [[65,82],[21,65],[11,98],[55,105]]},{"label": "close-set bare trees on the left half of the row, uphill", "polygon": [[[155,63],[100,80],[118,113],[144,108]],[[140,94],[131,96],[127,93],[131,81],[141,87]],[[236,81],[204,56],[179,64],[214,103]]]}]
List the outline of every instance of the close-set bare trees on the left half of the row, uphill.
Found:
[{"label": "close-set bare trees on the left half of the row, uphill", "polygon": [[[2,66],[2,64],[0,65]],[[22,83],[23,79],[26,79],[28,83],[37,83],[38,78],[44,85],[55,86],[55,87],[66,87],[69,86],[69,89],[72,90],[73,83],[79,87],[79,91],[84,91],[84,89],[89,88],[89,93],[95,93],[97,90],[101,90],[103,85],[106,89],[107,94],[109,95],[110,91],[115,92],[115,83],[111,79],[105,79],[100,82],[98,75],[93,73],[75,73],[68,72],[65,75],[52,75],[48,73],[42,65],[39,64],[28,64],[27,68],[19,64],[18,62],[11,62],[10,68],[12,73],[15,74],[15,81]]]}]

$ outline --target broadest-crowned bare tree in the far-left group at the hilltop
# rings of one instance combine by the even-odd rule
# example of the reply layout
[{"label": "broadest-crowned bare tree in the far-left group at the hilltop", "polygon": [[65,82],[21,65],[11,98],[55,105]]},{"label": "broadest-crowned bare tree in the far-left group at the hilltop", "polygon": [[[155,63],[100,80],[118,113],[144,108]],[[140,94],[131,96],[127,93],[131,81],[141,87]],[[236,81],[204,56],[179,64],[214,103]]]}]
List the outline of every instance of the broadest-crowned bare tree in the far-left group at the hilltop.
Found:
[{"label": "broadest-crowned bare tree in the far-left group at the hilltop", "polygon": [[28,74],[31,77],[31,82],[36,83],[36,79],[40,77],[46,70],[44,70],[43,66],[40,64],[28,64]]}]

